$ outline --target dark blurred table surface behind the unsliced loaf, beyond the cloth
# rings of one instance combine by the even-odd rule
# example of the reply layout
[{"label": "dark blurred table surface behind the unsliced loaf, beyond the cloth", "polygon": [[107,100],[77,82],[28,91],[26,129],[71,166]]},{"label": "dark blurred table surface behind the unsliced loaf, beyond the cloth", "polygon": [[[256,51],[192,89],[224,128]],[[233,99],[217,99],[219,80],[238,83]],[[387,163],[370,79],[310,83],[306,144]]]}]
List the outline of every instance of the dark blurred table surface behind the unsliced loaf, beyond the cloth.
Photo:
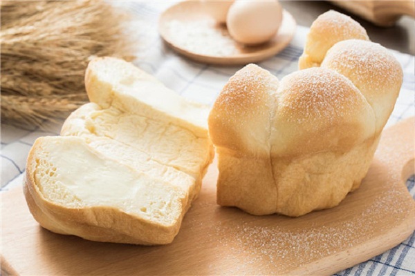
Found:
[{"label": "dark blurred table surface behind the unsliced loaf, beyond the cloth", "polygon": [[367,30],[371,41],[380,43],[386,48],[415,55],[415,20],[411,17],[401,17],[395,26],[382,28],[347,12],[347,10],[334,6],[328,1],[280,0],[280,3],[288,12],[293,14],[300,26],[310,27],[318,15],[327,10],[337,10],[358,21]]}]

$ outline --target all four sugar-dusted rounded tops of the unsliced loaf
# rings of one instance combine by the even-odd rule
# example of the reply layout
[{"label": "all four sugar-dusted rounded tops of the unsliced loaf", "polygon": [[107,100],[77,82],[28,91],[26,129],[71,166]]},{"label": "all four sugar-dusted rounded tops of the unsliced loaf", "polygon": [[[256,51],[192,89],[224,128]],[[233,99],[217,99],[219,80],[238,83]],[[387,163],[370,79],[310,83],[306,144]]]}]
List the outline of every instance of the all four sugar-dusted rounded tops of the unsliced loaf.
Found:
[{"label": "all four sugar-dusted rounded tops of the unsliced loaf", "polygon": [[299,62],[317,68],[278,83],[267,70],[248,65],[230,78],[210,112],[216,147],[282,157],[346,152],[378,137],[403,79],[387,49],[369,41],[356,21],[330,11],[313,23]]}]

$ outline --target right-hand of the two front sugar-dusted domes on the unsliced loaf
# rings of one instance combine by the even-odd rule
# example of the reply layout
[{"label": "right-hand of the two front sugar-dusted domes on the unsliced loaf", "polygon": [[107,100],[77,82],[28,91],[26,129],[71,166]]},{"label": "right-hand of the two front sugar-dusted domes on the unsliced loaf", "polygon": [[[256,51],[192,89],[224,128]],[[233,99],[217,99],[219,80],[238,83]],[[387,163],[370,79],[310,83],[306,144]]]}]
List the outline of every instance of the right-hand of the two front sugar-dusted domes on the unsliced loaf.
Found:
[{"label": "right-hand of the two front sugar-dusted domes on the unsliced loaf", "polygon": [[271,155],[345,152],[374,135],[374,112],[353,83],[326,68],[282,79],[272,118]]}]

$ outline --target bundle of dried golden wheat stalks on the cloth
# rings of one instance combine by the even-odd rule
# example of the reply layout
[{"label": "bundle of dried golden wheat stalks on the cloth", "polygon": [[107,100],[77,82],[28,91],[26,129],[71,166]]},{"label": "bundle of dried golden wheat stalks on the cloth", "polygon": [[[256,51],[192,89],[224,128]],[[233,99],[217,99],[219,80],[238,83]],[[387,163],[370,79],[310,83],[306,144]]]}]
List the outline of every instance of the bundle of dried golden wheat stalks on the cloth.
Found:
[{"label": "bundle of dried golden wheat stalks on the cloth", "polygon": [[1,122],[44,126],[87,101],[93,56],[131,58],[126,14],[90,1],[1,1]]}]

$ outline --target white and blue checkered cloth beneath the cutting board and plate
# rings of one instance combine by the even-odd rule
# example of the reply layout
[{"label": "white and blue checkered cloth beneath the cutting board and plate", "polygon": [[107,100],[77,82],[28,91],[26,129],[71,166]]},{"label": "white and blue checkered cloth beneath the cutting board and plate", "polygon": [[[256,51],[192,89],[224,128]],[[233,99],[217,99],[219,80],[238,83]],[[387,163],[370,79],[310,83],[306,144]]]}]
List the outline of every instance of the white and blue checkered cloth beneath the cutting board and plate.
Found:
[{"label": "white and blue checkered cloth beneath the cutting board and plate", "polygon": [[[135,14],[133,27],[138,37],[135,63],[151,73],[172,90],[188,99],[212,105],[228,79],[241,66],[219,67],[196,63],[185,59],[167,46],[158,36],[157,19],[160,12],[171,2],[118,2]],[[297,70],[297,59],[302,54],[308,28],[298,27],[291,44],[275,57],[259,63],[279,79]],[[414,56],[392,51],[404,69],[404,82],[387,126],[400,119],[414,116]],[[1,192],[13,186],[21,186],[28,151],[37,137],[58,135],[59,129],[44,132],[39,128],[21,129],[1,126]],[[414,176],[407,181],[407,187],[415,197]],[[415,219],[415,218],[414,218]],[[415,235],[391,250],[367,262],[338,272],[335,275],[412,275],[415,274]]]}]

